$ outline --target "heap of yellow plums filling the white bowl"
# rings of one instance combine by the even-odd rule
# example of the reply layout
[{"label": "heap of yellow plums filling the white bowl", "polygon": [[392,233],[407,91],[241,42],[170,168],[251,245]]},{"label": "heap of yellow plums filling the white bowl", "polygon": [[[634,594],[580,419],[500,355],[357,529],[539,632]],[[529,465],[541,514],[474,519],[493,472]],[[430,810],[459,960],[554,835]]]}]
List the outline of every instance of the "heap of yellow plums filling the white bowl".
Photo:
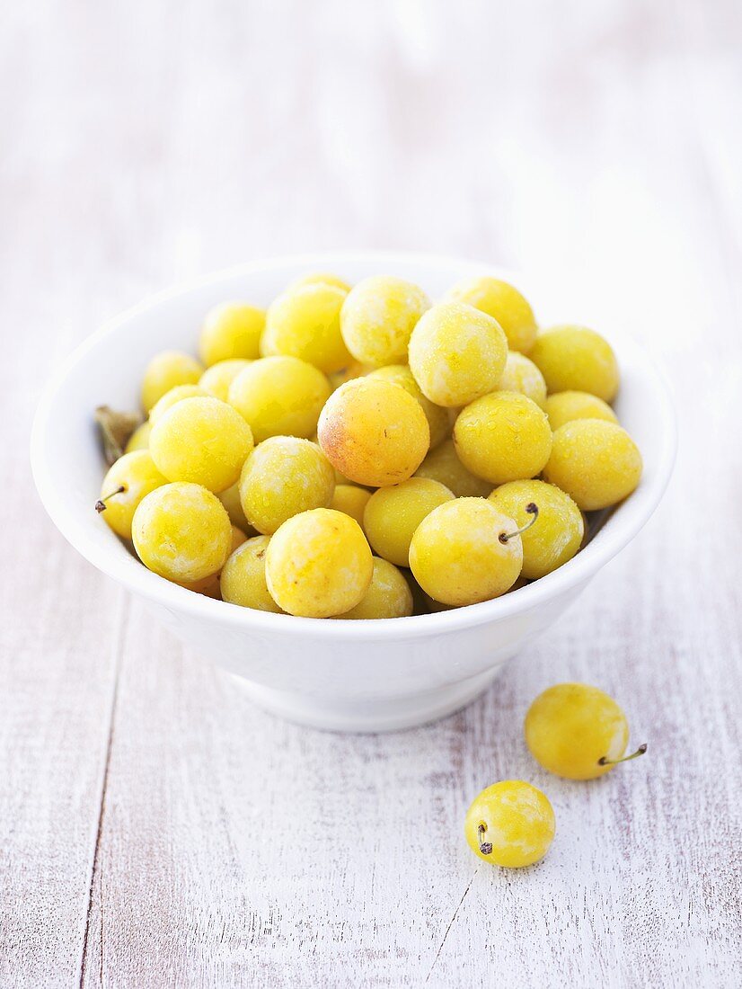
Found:
[{"label": "heap of yellow plums filling the white bowl", "polygon": [[307,275],[266,312],[212,309],[199,357],[150,361],[147,417],[96,508],[151,571],[231,604],[394,618],[489,600],[570,560],[584,513],[641,475],[610,345],[539,330],[495,278],[432,305],[400,278]]}]

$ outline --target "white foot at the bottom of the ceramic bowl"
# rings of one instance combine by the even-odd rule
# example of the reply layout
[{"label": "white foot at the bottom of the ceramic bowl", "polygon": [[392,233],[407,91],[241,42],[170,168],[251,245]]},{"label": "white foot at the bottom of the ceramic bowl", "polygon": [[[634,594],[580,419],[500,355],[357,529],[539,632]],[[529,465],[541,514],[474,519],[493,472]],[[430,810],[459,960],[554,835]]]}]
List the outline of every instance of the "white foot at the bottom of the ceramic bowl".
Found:
[{"label": "white foot at the bottom of the ceramic bowl", "polygon": [[501,666],[452,685],[403,697],[356,700],[316,697],[261,686],[233,675],[247,697],[265,711],[298,725],[327,732],[395,732],[445,718],[479,696]]}]

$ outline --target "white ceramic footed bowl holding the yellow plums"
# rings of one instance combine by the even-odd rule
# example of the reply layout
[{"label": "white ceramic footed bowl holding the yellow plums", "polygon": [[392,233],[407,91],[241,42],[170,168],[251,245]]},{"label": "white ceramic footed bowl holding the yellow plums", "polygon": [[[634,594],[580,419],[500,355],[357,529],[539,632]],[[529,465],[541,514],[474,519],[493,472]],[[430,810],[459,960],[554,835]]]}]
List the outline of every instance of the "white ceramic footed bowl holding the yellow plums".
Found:
[{"label": "white ceramic footed bowl holding the yellow plums", "polygon": [[[429,255],[338,252],[248,264],[157,295],[93,334],[48,386],[34,425],[34,474],[46,510],[69,542],[138,594],[176,635],[239,677],[256,703],[317,728],[406,728],[472,700],[636,535],[670,478],[674,412],[647,356],[607,333],[621,370],[618,415],[644,458],[641,483],[573,560],[496,600],[410,618],[328,621],[240,608],[169,584],[130,556],[93,508],[104,473],[93,409],[136,407],[147,361],[166,348],[195,351],[210,306],[238,298],[267,305],[308,271],[337,272],[351,282],[394,274],[434,299],[458,278],[493,273]],[[543,321],[570,316],[549,312],[536,286],[513,280],[535,301]]]}]

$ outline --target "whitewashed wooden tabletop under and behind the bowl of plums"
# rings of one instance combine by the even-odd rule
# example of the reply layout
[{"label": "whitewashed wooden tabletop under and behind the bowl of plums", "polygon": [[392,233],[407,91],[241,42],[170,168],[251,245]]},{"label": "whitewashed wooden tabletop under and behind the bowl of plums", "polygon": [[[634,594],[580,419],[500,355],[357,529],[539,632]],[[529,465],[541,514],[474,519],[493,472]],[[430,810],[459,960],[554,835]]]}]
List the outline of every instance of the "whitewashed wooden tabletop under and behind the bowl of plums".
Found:
[{"label": "whitewashed wooden tabletop under and behind the bowl of plums", "polygon": [[[127,4],[0,14],[0,984],[742,982],[742,15],[734,0]],[[661,359],[664,506],[467,710],[379,737],[254,709],[66,546],[28,466],[46,376],[224,264],[462,253],[548,278]],[[541,772],[544,686],[614,693],[649,755]],[[547,859],[476,868],[525,777]]]}]

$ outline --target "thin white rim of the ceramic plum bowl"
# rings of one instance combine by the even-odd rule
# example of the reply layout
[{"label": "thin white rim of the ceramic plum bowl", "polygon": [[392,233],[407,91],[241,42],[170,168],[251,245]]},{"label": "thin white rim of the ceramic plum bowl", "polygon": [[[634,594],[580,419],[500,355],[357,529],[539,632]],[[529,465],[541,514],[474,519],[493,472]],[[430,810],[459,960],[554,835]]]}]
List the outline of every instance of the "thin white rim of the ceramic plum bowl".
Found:
[{"label": "thin white rim of the ceramic plum bowl", "polygon": [[321,618],[259,611],[194,593],[158,577],[133,557],[126,555],[122,558],[114,552],[110,553],[108,549],[101,548],[98,543],[89,540],[83,525],[78,525],[71,517],[72,513],[67,512],[56,494],[56,486],[44,457],[46,430],[54,399],[67,375],[84,361],[88,353],[102,340],[151,307],[167,303],[209,284],[241,274],[255,274],[289,266],[324,270],[333,266],[342,266],[343,263],[362,265],[372,263],[391,269],[399,263],[442,268],[467,267],[471,275],[493,274],[508,280],[512,279],[516,284],[519,281],[516,274],[497,265],[453,255],[402,250],[336,250],[282,255],[237,264],[145,296],[135,306],[107,319],[99,329],[83,340],[62,361],[41,394],[31,434],[31,464],[41,502],[61,534],[98,570],[124,584],[127,589],[142,594],[170,610],[189,612],[195,617],[227,624],[237,629],[308,636],[312,639],[328,641],[415,639],[489,624],[530,611],[560,593],[586,583],[633,539],[650,518],[669,484],[677,450],[676,414],[668,382],[654,359],[649,357],[633,339],[623,334],[612,334],[611,342],[614,339],[620,340],[620,350],[633,350],[637,356],[641,356],[643,371],[652,380],[654,386],[656,398],[654,412],[659,414],[658,429],[662,438],[659,456],[654,465],[655,470],[650,479],[640,485],[623,503],[622,511],[607,521],[601,530],[600,539],[591,541],[566,564],[545,577],[492,600],[424,615],[395,619],[373,618],[364,621],[339,619],[328,621]]}]

